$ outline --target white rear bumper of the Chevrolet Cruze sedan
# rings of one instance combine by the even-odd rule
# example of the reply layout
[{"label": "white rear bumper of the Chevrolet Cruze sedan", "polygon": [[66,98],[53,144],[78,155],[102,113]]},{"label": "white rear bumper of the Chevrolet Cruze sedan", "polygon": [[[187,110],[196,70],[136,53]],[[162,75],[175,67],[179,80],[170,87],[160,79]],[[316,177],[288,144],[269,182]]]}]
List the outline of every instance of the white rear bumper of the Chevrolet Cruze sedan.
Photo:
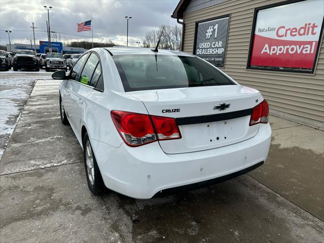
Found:
[{"label": "white rear bumper of the Chevrolet Cruze sedan", "polygon": [[[157,192],[220,178],[265,161],[271,128],[260,125],[248,140],[198,152],[166,154],[158,143],[118,148],[91,140],[103,181],[109,189],[134,198],[151,198]],[[237,173],[240,174],[240,173]]]}]

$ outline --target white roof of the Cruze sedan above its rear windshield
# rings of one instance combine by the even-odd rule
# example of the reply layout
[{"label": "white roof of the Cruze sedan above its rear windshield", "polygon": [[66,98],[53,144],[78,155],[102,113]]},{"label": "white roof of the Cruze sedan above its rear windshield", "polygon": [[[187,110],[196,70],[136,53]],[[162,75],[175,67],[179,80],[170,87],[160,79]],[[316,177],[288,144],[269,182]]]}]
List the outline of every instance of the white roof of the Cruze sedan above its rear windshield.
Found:
[{"label": "white roof of the Cruze sedan above its rear windshield", "polygon": [[113,56],[117,55],[175,55],[175,56],[192,56],[186,52],[171,51],[158,49],[158,52],[153,52],[151,48],[142,48],[142,47],[106,47],[104,48],[109,51]]}]

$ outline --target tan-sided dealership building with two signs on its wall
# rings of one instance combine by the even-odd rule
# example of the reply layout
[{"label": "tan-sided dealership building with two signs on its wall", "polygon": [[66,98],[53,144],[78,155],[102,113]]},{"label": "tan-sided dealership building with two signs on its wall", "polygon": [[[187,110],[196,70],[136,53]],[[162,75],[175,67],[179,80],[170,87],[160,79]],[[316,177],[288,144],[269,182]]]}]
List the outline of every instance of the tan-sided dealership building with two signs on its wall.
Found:
[{"label": "tan-sided dealership building with two signs on its wall", "polygon": [[260,90],[271,114],[324,130],[323,12],[322,0],[181,0],[172,17],[182,51]]}]

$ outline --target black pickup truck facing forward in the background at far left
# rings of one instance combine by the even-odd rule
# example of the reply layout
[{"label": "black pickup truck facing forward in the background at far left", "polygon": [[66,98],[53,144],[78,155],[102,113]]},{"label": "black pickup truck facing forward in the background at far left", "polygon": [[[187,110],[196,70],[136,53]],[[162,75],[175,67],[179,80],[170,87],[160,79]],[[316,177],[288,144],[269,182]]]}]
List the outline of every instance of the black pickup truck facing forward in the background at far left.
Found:
[{"label": "black pickup truck facing forward in the background at far left", "polygon": [[39,60],[34,51],[31,50],[18,50],[14,57],[14,71],[21,68],[34,69],[39,71]]}]

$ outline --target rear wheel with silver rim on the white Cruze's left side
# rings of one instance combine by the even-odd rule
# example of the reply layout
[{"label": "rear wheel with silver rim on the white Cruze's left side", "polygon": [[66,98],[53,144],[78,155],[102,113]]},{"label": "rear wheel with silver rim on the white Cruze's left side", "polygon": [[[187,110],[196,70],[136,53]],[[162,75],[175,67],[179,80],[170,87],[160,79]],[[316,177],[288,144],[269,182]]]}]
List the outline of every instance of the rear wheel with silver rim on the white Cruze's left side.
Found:
[{"label": "rear wheel with silver rim on the white Cruze's left side", "polygon": [[101,195],[105,189],[105,185],[99,171],[95,154],[92,151],[88,133],[85,134],[83,139],[83,151],[89,189],[94,195]]}]

